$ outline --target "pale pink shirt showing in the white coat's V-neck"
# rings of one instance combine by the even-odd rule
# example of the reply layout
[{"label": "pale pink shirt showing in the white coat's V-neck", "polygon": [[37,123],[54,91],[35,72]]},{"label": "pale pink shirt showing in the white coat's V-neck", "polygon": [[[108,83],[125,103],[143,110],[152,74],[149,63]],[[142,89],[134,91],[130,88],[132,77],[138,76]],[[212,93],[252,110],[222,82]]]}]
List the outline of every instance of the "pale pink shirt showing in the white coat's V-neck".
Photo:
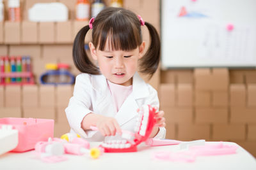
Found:
[{"label": "pale pink shirt showing in the white coat's V-neck", "polygon": [[114,105],[116,108],[116,112],[121,108],[122,104],[124,103],[125,99],[131,94],[132,92],[132,85],[124,86],[112,83],[108,81],[108,87],[112,95],[112,99],[114,101]]}]

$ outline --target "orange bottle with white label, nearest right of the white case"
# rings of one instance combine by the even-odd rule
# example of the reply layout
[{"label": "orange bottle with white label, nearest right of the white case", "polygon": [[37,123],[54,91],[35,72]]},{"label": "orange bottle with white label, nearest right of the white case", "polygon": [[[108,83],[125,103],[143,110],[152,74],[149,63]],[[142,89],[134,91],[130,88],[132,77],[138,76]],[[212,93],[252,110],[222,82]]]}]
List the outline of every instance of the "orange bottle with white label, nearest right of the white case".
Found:
[{"label": "orange bottle with white label, nearest right of the white case", "polygon": [[76,3],[76,20],[89,20],[90,2],[88,0],[77,0]]}]

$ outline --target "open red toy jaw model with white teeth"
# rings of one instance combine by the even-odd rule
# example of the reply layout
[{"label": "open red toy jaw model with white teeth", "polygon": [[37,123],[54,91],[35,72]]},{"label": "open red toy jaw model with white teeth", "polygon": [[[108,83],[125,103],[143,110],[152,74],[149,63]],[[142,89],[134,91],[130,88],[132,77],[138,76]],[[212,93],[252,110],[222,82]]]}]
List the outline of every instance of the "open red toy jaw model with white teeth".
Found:
[{"label": "open red toy jaw model with white teeth", "polygon": [[[137,146],[143,142],[147,141],[150,136],[156,120],[154,115],[156,114],[156,108],[150,105],[143,105],[140,110],[138,110],[138,122],[134,129],[134,139],[122,139],[106,141],[100,145],[104,148],[104,152],[136,152]],[[122,131],[127,134],[127,131]],[[123,135],[122,135],[123,136]]]}]

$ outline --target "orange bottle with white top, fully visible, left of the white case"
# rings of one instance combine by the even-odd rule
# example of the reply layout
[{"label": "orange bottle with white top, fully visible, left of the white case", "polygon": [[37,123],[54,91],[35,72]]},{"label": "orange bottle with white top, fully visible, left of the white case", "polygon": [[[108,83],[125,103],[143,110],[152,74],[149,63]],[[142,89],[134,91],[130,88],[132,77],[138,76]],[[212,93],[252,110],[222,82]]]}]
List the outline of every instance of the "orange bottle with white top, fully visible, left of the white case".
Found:
[{"label": "orange bottle with white top, fully visible, left of the white case", "polygon": [[20,0],[8,0],[8,14],[10,21],[20,21]]}]

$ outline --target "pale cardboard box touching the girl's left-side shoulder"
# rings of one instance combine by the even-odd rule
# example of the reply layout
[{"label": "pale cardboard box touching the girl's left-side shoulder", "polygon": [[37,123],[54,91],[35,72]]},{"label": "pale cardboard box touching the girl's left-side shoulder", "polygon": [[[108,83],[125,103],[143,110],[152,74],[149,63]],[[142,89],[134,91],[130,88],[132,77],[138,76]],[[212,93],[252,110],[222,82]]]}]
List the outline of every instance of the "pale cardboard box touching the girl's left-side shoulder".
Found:
[{"label": "pale cardboard box touching the girl's left-side shoulder", "polygon": [[56,105],[57,108],[68,106],[69,99],[72,97],[72,85],[63,85],[56,88]]}]

